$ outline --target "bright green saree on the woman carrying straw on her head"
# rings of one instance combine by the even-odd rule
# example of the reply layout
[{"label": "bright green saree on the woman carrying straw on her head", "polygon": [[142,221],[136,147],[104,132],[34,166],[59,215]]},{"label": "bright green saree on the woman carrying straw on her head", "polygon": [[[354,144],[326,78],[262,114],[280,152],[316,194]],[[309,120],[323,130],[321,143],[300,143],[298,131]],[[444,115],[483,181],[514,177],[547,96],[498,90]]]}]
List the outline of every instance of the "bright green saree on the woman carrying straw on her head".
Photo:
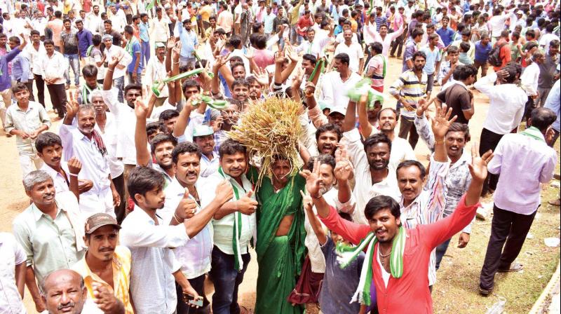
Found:
[{"label": "bright green saree on the woman carrying straw on her head", "polygon": [[[256,177],[257,178],[257,177]],[[294,289],[302,269],[306,247],[304,211],[300,190],[306,181],[299,175],[275,193],[271,179],[265,177],[257,191],[257,302],[256,314],[300,314],[302,306],[292,306],[287,297]],[[276,236],[280,221],[293,215],[288,235]]]}]

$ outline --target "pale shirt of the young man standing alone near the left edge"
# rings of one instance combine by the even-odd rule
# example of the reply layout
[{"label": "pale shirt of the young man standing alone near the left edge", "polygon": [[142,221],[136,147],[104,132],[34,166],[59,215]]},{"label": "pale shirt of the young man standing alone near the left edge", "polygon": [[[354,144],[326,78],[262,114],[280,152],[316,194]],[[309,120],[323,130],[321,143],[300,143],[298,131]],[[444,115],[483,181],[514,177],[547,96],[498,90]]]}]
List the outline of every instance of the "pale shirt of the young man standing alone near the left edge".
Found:
[{"label": "pale shirt of the young man standing alone near the left edge", "polygon": [[[21,130],[29,134],[40,128],[41,125],[50,127],[50,118],[45,108],[39,102],[29,101],[26,111],[20,109],[17,103],[12,104],[6,109],[6,125],[4,125],[6,133],[9,133],[11,130]],[[15,144],[18,146],[20,154],[37,153],[35,140],[30,137],[22,139],[18,135],[15,137]]]}]

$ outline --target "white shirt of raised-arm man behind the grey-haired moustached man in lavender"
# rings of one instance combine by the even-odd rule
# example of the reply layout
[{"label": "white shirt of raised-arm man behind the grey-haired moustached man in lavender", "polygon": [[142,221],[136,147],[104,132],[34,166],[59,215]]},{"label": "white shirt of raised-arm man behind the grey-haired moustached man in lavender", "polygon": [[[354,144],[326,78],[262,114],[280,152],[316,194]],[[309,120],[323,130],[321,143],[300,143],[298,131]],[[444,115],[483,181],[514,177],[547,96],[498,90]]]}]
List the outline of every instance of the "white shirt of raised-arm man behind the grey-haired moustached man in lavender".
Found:
[{"label": "white shirt of raised-arm man behind the grey-haired moustached man in lavender", "polygon": [[[117,100],[117,89],[102,90],[103,101],[115,116],[117,143],[115,156],[122,158],[125,165],[136,165],[135,109]],[[107,145],[107,144],[106,144]]]}]

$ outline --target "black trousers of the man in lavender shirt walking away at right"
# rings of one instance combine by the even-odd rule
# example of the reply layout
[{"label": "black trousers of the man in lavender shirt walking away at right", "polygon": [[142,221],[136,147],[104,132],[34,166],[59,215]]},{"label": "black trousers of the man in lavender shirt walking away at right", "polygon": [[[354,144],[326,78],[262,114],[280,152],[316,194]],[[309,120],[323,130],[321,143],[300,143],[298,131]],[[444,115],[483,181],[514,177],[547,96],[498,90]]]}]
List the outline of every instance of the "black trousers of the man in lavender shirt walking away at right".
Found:
[{"label": "black trousers of the man in lavender shirt walking away at right", "polygon": [[493,288],[496,271],[511,268],[524,245],[537,211],[536,209],[529,215],[517,214],[493,206],[491,236],[479,278],[479,286],[482,289]]}]

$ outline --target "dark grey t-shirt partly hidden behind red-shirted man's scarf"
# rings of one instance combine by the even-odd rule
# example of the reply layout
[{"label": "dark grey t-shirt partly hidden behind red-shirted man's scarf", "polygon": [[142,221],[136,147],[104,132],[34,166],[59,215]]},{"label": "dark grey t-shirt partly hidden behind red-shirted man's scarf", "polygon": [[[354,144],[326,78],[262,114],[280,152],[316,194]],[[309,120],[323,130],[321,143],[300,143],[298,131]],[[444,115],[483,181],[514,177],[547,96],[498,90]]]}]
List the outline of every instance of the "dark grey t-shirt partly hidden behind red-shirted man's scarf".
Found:
[{"label": "dark grey t-shirt partly hidden behind red-shirted man's scarf", "polygon": [[320,292],[320,308],[323,313],[356,314],[360,310],[358,302],[349,303],[358,287],[360,270],[363,268],[364,252],[348,267],[341,269],[333,240],[328,236],[321,246],[325,257],[325,275]]}]

